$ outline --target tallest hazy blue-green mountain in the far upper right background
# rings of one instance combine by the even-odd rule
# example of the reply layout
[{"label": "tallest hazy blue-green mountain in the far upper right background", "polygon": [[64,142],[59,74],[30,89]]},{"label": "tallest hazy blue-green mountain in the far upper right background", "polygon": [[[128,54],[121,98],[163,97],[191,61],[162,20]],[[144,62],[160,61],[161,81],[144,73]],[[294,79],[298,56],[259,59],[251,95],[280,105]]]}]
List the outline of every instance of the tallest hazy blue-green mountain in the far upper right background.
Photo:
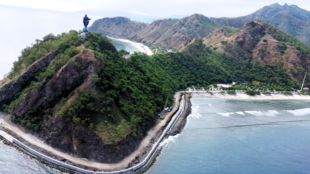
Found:
[{"label": "tallest hazy blue-green mountain in the far upper right background", "polygon": [[210,18],[217,25],[241,28],[245,22],[261,19],[310,45],[310,12],[295,5],[278,3],[264,6],[254,13],[237,18]]}]

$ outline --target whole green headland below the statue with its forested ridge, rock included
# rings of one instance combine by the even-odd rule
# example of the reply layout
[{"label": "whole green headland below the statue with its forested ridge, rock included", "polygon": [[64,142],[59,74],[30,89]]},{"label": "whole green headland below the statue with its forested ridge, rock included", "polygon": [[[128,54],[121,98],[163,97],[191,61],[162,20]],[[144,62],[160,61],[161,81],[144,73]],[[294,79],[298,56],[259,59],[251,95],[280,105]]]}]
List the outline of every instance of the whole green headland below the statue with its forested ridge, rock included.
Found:
[{"label": "whole green headland below the statue with its forested ridge, rock included", "polygon": [[53,147],[105,163],[135,150],[175,91],[232,81],[298,87],[280,66],[231,57],[198,38],[182,52],[125,59],[100,33],[82,39],[76,31],[24,49],[5,81],[0,105],[13,122]]}]

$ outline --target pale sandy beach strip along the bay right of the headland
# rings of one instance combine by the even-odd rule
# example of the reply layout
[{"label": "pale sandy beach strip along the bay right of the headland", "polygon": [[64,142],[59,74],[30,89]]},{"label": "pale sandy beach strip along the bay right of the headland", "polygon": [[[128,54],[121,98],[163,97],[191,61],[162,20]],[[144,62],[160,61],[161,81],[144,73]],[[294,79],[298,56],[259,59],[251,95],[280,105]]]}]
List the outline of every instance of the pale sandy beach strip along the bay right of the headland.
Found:
[{"label": "pale sandy beach strip along the bay right of the headland", "polygon": [[219,99],[259,99],[259,100],[310,100],[310,95],[286,95],[286,94],[260,94],[260,95],[247,95],[244,93],[237,94],[220,94],[220,93],[200,93],[198,91],[191,92],[192,97],[210,97]]}]

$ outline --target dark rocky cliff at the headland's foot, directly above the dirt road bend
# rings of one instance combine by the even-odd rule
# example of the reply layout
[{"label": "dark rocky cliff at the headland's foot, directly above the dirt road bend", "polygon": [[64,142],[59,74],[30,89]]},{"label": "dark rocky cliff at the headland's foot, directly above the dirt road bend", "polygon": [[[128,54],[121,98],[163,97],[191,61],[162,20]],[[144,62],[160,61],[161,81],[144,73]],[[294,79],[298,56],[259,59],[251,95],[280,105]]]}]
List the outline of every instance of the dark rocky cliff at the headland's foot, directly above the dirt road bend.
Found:
[{"label": "dark rocky cliff at the headland's foot, directly above the dirt road bend", "polygon": [[47,124],[50,124],[49,128],[43,130],[39,137],[45,143],[78,158],[101,163],[116,163],[124,159],[142,140],[127,136],[120,142],[106,144],[95,131],[68,123],[63,118],[55,118]]}]

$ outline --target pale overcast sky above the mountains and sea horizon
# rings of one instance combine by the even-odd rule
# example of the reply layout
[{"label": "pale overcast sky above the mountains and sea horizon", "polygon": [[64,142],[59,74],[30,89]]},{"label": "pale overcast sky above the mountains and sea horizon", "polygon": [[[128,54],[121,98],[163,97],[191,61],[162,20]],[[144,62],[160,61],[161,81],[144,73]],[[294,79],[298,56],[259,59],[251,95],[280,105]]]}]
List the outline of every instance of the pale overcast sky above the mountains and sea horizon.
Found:
[{"label": "pale overcast sky above the mountains and sea horizon", "polygon": [[210,17],[238,17],[249,15],[273,3],[280,5],[287,3],[310,11],[308,0],[3,0],[0,2],[1,5],[68,12],[118,9],[158,17],[194,13]]}]

